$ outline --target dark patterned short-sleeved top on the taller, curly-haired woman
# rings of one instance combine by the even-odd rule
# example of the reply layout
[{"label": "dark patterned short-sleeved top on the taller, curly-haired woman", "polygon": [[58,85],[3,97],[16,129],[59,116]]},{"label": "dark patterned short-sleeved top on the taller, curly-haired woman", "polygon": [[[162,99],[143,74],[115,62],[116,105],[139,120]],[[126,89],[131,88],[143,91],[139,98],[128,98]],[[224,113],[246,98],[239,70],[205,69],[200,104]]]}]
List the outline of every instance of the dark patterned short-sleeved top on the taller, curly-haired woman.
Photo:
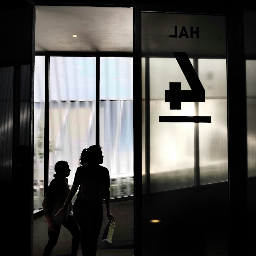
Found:
[{"label": "dark patterned short-sleeved top on the taller, curly-haired woman", "polygon": [[74,184],[80,185],[77,198],[89,202],[102,202],[104,189],[110,187],[109,170],[101,165],[82,165],[77,168]]}]

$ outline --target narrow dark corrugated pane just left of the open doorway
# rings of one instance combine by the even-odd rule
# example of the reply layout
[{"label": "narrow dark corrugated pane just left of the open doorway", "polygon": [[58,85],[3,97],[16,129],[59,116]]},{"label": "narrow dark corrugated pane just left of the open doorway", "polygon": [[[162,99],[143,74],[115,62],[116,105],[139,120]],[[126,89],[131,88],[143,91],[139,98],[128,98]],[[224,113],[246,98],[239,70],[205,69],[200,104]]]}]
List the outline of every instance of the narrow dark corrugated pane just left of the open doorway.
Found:
[{"label": "narrow dark corrugated pane just left of the open doorway", "polygon": [[20,75],[20,145],[30,147],[30,65],[21,66]]}]

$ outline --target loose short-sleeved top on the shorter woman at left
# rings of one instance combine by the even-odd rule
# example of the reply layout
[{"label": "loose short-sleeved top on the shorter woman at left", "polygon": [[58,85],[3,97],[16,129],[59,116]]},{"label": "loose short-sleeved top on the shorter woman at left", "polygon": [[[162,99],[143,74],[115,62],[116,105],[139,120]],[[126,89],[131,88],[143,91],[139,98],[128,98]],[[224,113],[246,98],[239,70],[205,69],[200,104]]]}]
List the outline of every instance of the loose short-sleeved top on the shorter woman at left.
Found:
[{"label": "loose short-sleeved top on the shorter woman at left", "polygon": [[[65,203],[68,193],[70,191],[67,178],[66,181],[54,178],[51,181],[49,187],[47,188],[44,200],[42,202],[42,205],[47,206],[53,224],[62,223],[63,221],[68,219],[69,214],[72,215],[72,205],[70,202],[68,209],[65,210],[63,214],[59,214],[57,217],[55,217],[58,210]],[[44,219],[46,220],[45,216]]]}]

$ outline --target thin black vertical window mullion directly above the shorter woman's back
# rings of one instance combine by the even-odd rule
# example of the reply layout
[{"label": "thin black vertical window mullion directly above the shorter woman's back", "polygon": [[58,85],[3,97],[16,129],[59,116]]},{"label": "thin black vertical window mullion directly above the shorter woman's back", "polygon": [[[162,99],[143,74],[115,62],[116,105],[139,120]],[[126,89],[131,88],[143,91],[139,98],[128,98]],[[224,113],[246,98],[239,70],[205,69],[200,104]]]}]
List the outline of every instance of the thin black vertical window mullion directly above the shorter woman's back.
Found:
[{"label": "thin black vertical window mullion directly above the shorter woman's back", "polygon": [[49,183],[49,55],[45,55],[44,194]]}]

